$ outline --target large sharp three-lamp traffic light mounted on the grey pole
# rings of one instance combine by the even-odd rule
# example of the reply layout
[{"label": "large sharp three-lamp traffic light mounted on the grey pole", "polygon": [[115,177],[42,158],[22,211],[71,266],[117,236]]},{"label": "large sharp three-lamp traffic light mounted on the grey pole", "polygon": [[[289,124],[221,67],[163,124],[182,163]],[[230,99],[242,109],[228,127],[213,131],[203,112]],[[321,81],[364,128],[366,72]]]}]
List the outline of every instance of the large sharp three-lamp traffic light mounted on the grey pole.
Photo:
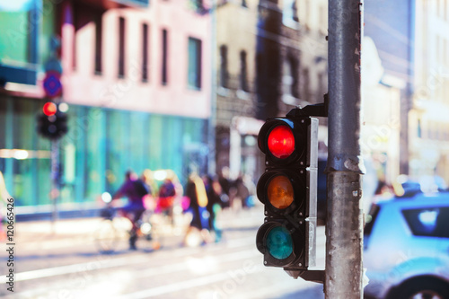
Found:
[{"label": "large sharp three-lamp traffic light mounted on the grey pole", "polygon": [[266,170],[257,186],[265,221],[256,244],[265,266],[292,275],[315,266],[318,119],[268,119],[258,139]]}]

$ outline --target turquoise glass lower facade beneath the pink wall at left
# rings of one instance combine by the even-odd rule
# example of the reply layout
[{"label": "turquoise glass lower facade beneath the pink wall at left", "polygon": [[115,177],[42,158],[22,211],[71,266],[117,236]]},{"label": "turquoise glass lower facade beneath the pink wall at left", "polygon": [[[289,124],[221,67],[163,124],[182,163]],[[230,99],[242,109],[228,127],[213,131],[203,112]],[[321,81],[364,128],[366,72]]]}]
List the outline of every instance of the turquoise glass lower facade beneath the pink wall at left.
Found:
[{"label": "turquoise glass lower facade beneath the pink wall at left", "polygon": [[[16,206],[51,204],[51,142],[36,132],[42,100],[0,95],[0,171]],[[92,203],[128,170],[207,169],[207,119],[70,105],[59,140],[59,203]]]}]

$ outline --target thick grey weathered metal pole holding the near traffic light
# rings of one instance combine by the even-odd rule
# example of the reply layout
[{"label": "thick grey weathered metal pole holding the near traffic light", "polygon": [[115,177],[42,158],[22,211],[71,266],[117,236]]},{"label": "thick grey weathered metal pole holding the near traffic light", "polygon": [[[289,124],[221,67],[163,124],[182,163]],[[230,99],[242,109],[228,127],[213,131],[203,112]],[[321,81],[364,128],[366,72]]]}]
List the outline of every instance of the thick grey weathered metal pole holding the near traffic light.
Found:
[{"label": "thick grey weathered metal pole holding the near traffic light", "polygon": [[326,299],[362,298],[360,151],[362,3],[329,0],[329,157]]}]

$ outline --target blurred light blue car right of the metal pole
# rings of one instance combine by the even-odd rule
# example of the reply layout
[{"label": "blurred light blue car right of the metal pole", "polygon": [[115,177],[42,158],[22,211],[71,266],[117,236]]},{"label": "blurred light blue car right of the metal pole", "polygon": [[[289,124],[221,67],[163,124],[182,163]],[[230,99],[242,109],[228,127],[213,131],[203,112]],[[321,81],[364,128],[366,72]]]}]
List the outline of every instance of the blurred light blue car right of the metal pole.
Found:
[{"label": "blurred light blue car right of the metal pole", "polygon": [[374,204],[364,268],[366,298],[449,298],[449,192]]}]

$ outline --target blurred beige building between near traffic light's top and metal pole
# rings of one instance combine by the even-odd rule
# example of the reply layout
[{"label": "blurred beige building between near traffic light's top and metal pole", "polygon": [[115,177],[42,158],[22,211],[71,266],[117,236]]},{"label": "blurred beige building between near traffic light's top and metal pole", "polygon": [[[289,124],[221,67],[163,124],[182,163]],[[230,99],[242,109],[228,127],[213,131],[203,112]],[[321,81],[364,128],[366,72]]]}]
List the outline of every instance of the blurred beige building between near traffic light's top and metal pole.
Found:
[{"label": "blurred beige building between near traffic light's top and metal pole", "polygon": [[[277,113],[285,115],[297,105],[323,102],[328,92],[328,2],[283,0],[280,8],[281,95]],[[320,119],[320,124],[327,123]]]}]

